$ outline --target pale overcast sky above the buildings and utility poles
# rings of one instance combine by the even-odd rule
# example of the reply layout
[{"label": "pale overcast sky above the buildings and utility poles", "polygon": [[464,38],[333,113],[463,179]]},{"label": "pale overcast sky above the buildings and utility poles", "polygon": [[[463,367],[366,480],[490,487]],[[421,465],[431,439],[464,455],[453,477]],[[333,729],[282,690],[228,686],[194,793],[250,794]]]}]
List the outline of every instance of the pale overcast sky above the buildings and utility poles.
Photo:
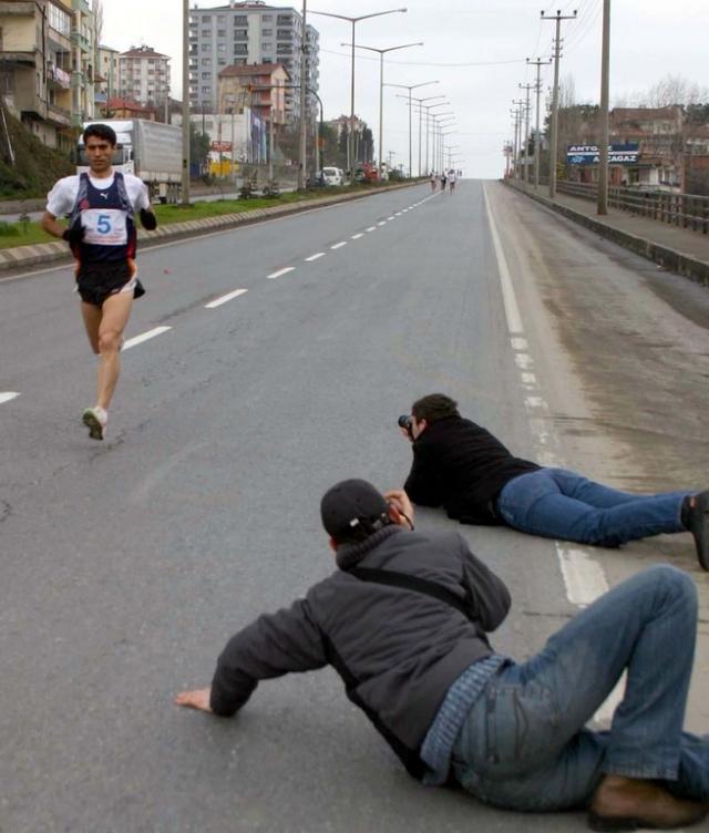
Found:
[{"label": "pale overcast sky above the buildings and utility poles", "polygon": [[[342,43],[350,41],[350,24],[310,11],[350,17],[395,8],[388,0],[308,0],[308,22],[320,32],[320,96],[325,117],[350,112],[350,59]],[[191,0],[191,7],[214,8],[223,2]],[[292,4],[301,11],[302,0]],[[573,78],[578,102],[599,96],[600,22],[603,0],[403,0],[407,13],[362,21],[357,43],[378,49],[423,41],[423,47],[390,53],[384,82],[440,83],[413,95],[444,94],[454,111],[455,135],[465,175],[497,177],[504,168],[502,145],[512,137],[512,100],[524,95],[521,83],[534,81],[525,58],[548,58],[554,23],[541,21],[540,11],[578,10],[577,20],[563,23],[564,56],[561,75]],[[121,51],[146,43],[172,56],[173,94],[182,95],[182,0],[103,0],[103,42]],[[290,3],[282,3],[290,6]],[[707,32],[708,0],[612,0],[610,100],[649,89],[668,73],[709,86]],[[544,90],[553,73],[543,74]],[[407,103],[395,97],[405,90],[384,90],[384,158],[409,160]],[[434,102],[429,102],[434,103]],[[356,104],[358,115],[379,132],[379,55],[358,50]],[[543,109],[542,109],[543,110]],[[533,110],[534,112],[534,110]],[[417,117],[414,116],[414,172]],[[327,161],[326,161],[327,162]]]}]

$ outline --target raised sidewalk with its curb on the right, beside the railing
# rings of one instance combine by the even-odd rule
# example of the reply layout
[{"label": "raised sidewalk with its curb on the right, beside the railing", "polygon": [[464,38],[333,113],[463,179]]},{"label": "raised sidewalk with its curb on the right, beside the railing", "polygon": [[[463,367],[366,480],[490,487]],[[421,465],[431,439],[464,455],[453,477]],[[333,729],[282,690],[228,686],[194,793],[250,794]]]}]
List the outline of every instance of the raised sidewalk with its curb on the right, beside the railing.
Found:
[{"label": "raised sidewalk with its curb on the right, beside the railing", "polygon": [[551,200],[546,186],[535,192],[534,186],[524,183],[506,181],[505,184],[666,269],[709,286],[709,235],[617,208],[609,208],[608,214],[600,217],[596,214],[595,200],[558,192]]}]

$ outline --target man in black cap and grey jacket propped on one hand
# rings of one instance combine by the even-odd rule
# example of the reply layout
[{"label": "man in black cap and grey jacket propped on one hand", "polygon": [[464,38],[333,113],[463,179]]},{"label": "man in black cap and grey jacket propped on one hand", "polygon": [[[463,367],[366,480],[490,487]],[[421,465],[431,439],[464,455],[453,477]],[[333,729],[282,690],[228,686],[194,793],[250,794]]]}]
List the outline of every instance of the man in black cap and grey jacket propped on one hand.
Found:
[{"label": "man in black cap and grey jacket propped on one hand", "polygon": [[[486,636],[510,594],[462,536],[414,532],[405,493],[361,480],[332,486],[320,510],[338,569],[232,637],[212,687],[179,706],[232,717],[259,680],[331,665],[424,783],[454,780],[513,810],[589,808],[597,830],[705,816],[709,741],[681,731],[697,626],[688,576],[635,576],[516,665]],[[585,729],[624,670],[610,732]]]}]

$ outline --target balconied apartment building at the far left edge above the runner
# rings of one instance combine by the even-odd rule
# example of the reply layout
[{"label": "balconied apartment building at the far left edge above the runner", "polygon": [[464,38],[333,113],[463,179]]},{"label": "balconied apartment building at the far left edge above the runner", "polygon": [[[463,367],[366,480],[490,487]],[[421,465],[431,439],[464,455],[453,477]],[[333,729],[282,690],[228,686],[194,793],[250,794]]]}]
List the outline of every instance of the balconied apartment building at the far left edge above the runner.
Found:
[{"label": "balconied apartment building at the far left edge above the runner", "polygon": [[0,94],[49,147],[93,117],[93,17],[85,0],[0,0]]}]

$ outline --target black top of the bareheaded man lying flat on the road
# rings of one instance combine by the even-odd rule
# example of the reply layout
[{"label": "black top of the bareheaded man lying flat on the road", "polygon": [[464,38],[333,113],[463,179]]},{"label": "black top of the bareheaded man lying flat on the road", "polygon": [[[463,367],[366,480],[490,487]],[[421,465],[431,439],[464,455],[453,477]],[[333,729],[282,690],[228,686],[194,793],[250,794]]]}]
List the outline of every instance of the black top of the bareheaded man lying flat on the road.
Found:
[{"label": "black top of the bareheaded man lying flat on the road", "polygon": [[443,505],[463,524],[501,523],[493,502],[502,487],[541,467],[513,456],[490,431],[462,416],[428,425],[412,448],[404,491],[421,506]]}]

